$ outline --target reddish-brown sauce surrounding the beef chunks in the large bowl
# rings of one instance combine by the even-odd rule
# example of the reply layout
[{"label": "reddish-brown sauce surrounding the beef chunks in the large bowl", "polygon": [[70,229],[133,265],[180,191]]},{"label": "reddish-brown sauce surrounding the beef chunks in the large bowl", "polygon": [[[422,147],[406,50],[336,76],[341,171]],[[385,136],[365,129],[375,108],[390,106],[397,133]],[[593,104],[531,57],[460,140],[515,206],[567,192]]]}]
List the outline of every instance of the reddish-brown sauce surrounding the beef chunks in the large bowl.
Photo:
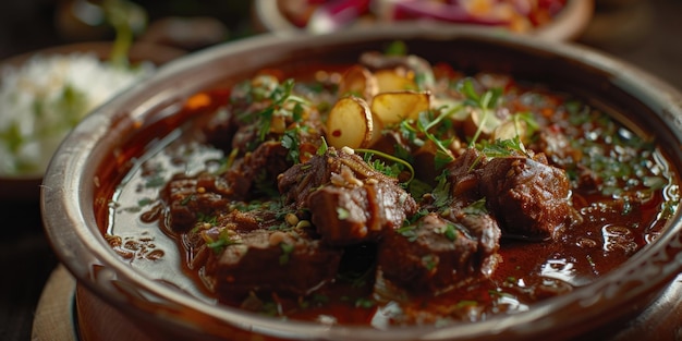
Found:
[{"label": "reddish-brown sauce surrounding the beef chunks in the large bowl", "polygon": [[[588,101],[508,75],[464,76],[446,65],[435,65],[434,74],[437,80],[449,80],[449,84],[474,80],[477,85],[501,85],[501,107],[511,112],[532,112],[538,131],[568,136],[573,155],[558,153],[548,155],[548,160],[563,168],[570,179],[571,204],[582,217],[579,223],[567,227],[555,239],[540,241],[503,234],[497,251],[501,261],[489,278],[475,278],[441,293],[405,291],[376,276],[376,245],[369,243],[352,246],[353,252],[344,254],[344,271],[312,294],[254,290],[240,300],[216,297],[205,277],[204,264],[219,252],[211,252],[205,241],[197,241],[196,230],[173,231],[167,203],[159,192],[174,174],[192,178],[223,169],[231,150],[208,144],[205,124],[229,107],[234,90],[217,90],[190,99],[181,110],[196,120],[156,143],[121,183],[109,210],[110,244],[134,267],[156,271],[159,280],[206,301],[325,324],[438,325],[531,309],[538,301],[587,285],[653,242],[677,209],[677,178],[655,144],[635,136],[589,107]],[[305,75],[302,78],[306,82],[297,83],[293,92],[316,98],[318,107],[328,108],[338,96],[338,73],[321,72],[317,81],[310,82],[316,77]],[[533,149],[537,139],[524,143]],[[580,162],[575,162],[575,153],[581,155]],[[589,171],[579,171],[584,169]],[[581,178],[585,174],[593,176]],[[424,182],[433,183],[433,179]],[[277,197],[271,200],[279,203]],[[247,209],[247,205],[269,203],[260,197],[232,203],[231,207]]]}]

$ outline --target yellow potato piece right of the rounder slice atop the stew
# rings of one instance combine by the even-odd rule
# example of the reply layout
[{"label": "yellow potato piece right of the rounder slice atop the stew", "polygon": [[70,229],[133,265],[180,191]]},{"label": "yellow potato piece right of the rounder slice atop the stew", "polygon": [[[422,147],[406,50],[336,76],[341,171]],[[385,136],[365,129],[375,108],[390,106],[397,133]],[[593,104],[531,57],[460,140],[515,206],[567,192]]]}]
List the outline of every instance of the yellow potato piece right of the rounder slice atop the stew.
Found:
[{"label": "yellow potato piece right of the rounder slice atop the stew", "polygon": [[400,123],[403,120],[416,120],[419,112],[427,111],[430,106],[430,93],[392,92],[381,93],[372,100],[372,112],[386,125]]}]

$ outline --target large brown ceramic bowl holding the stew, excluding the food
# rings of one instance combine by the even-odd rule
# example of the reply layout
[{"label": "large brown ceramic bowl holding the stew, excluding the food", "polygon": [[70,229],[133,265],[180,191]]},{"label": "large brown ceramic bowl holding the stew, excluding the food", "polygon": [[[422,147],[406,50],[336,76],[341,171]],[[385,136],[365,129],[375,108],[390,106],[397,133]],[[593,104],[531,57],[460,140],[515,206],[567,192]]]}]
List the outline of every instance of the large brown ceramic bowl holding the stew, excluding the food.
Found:
[{"label": "large brown ceramic bowl holding the stew, excluding the food", "polygon": [[[217,46],[162,66],[154,77],[96,110],[52,158],[41,195],[45,229],[78,283],[76,307],[89,312],[85,325],[92,334],[120,337],[124,329],[111,327],[117,326],[112,325],[115,315],[136,326],[138,337],[149,340],[510,341],[595,334],[604,339],[649,306],[682,269],[679,212],[655,242],[588,285],[537,303],[527,312],[443,328],[379,330],[254,315],[198,300],[173,283],[174,276],[182,276],[180,270],[156,273],[132,267],[109,246],[102,234],[109,219],[118,219],[108,216],[115,185],[150,141],[167,136],[186,119],[176,113],[192,94],[234,84],[263,68],[295,70],[317,62],[354,62],[362,51],[381,49],[397,39],[429,60],[560,84],[604,108],[631,112],[628,120],[645,132],[656,132],[671,168],[678,173],[682,170],[682,95],[630,64],[584,47],[424,23],[328,36],[263,35]],[[155,243],[165,257],[172,257],[172,242]],[[98,310],[93,305],[103,306],[108,313],[93,313]]]}]

